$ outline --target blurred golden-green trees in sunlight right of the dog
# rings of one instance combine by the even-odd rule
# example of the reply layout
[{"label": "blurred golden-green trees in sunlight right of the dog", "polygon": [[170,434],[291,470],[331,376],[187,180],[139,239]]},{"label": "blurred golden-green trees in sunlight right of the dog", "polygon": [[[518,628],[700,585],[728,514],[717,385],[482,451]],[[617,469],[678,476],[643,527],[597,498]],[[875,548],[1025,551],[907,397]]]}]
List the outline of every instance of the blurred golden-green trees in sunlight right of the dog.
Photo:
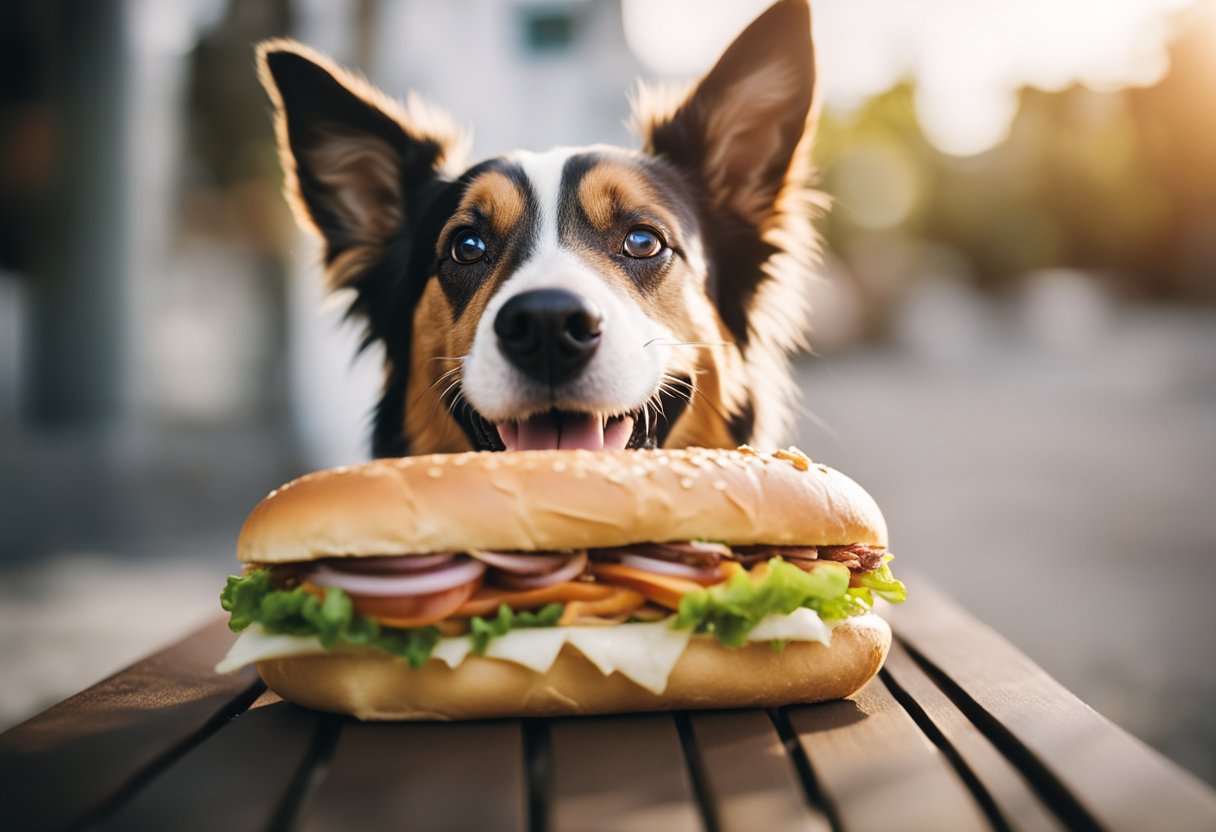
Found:
[{"label": "blurred golden-green trees in sunlight right of the dog", "polygon": [[1000,294],[1062,266],[1133,298],[1216,299],[1216,2],[1200,11],[1212,19],[1182,28],[1156,85],[1024,89],[1009,136],[975,157],[925,140],[911,83],[824,113],[824,234],[868,307],[866,335],[886,335],[927,277]]}]

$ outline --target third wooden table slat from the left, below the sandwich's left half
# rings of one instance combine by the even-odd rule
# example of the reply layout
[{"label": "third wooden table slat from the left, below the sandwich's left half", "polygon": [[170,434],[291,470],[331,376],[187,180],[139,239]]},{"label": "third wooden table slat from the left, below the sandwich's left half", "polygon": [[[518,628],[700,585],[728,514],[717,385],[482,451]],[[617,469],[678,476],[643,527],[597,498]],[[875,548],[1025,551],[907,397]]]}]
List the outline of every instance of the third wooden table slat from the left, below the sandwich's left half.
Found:
[{"label": "third wooden table slat from the left, below the sandwich's left half", "polygon": [[518,721],[349,720],[298,828],[522,832],[525,800]]}]

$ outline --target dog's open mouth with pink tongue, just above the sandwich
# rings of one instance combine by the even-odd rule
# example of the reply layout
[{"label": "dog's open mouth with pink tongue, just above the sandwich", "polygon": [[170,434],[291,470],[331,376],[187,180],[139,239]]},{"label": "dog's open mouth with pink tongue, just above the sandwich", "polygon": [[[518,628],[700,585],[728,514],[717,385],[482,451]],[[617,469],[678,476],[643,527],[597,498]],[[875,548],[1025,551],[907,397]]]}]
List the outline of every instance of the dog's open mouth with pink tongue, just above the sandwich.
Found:
[{"label": "dog's open mouth with pink tongue, just above the sandwich", "polygon": [[457,422],[477,450],[644,450],[666,439],[687,399],[664,392],[655,403],[620,415],[546,410],[492,422],[472,407],[456,407]]}]

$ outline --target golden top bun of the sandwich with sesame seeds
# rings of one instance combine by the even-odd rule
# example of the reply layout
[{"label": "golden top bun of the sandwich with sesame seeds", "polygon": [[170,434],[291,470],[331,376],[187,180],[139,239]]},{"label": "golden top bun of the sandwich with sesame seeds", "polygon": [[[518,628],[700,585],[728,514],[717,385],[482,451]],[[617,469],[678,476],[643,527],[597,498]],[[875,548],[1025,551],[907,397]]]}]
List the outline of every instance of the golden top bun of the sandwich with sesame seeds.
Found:
[{"label": "golden top bun of the sandwich with sesame seeds", "polygon": [[855,482],[790,449],[471,452],[377,460],[272,491],[244,563],[636,543],[886,545]]}]

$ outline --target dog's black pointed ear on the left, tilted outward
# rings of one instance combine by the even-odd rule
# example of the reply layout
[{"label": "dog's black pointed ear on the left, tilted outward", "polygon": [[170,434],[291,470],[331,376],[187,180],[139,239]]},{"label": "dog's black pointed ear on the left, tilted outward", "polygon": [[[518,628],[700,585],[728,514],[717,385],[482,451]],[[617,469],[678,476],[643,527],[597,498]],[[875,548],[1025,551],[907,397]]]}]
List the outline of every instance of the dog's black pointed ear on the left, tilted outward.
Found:
[{"label": "dog's black pointed ear on the left, tilted outward", "polygon": [[325,240],[340,288],[356,270],[339,259],[366,264],[404,231],[466,139],[443,113],[402,106],[292,40],[259,44],[258,77],[275,103],[288,202]]}]

